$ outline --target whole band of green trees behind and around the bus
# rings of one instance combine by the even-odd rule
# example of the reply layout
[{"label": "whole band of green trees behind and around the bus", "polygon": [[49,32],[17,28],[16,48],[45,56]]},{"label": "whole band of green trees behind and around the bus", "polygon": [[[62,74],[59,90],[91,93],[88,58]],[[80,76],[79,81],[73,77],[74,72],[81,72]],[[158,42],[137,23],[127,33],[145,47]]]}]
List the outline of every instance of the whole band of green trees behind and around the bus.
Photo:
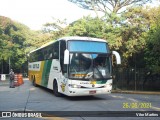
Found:
[{"label": "whole band of green trees behind and around the bus", "polygon": [[[88,36],[106,39],[111,50],[121,54],[123,67],[146,67],[160,72],[160,7],[133,7],[149,0],[81,1],[72,0],[83,8],[102,11],[105,16],[86,16],[70,25],[66,20],[54,18],[42,31],[31,31],[23,24],[0,16],[0,66],[8,64],[10,59],[13,69],[26,71],[29,51],[63,36]],[[108,4],[112,6],[110,11]],[[124,8],[125,12],[117,14]]]}]

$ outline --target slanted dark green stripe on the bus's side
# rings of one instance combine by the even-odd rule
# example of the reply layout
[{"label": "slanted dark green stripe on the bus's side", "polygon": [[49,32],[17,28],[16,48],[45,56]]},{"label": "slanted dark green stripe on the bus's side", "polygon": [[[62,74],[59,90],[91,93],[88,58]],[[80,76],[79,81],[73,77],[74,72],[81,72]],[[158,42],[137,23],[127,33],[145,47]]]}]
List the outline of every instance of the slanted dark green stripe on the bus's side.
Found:
[{"label": "slanted dark green stripe on the bus's side", "polygon": [[47,87],[47,85],[48,85],[51,64],[52,64],[52,60],[46,60],[44,63],[42,82],[41,82],[41,85],[44,87]]}]

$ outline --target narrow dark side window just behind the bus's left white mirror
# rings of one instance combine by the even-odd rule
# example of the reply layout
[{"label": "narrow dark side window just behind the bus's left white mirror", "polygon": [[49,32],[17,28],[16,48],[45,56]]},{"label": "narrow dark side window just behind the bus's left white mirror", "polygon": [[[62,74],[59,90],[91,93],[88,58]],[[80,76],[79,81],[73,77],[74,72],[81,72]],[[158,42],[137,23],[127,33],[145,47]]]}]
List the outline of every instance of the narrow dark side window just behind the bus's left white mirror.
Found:
[{"label": "narrow dark side window just behind the bus's left white mirror", "polygon": [[64,51],[66,50],[66,41],[61,40],[60,41],[60,64],[61,64],[61,70],[62,73],[67,73],[67,65],[64,64]]}]

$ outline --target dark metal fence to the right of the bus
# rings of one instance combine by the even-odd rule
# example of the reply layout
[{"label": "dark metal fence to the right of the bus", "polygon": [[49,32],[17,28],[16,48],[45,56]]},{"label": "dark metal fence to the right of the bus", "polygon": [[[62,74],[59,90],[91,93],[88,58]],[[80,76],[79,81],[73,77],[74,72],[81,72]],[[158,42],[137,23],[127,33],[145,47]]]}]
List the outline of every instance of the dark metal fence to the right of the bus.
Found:
[{"label": "dark metal fence to the right of the bus", "polygon": [[150,74],[143,68],[116,68],[113,75],[115,90],[160,91],[160,74]]}]

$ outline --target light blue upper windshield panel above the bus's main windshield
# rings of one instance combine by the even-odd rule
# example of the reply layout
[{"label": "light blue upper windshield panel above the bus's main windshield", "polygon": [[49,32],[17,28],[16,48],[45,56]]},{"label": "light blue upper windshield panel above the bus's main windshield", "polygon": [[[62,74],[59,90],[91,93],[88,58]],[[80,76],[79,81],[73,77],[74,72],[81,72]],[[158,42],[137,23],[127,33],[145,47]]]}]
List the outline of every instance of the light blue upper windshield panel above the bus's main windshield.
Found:
[{"label": "light blue upper windshield panel above the bus's main windshield", "polygon": [[107,53],[108,48],[105,42],[96,41],[68,41],[70,52],[91,52],[91,53]]}]

